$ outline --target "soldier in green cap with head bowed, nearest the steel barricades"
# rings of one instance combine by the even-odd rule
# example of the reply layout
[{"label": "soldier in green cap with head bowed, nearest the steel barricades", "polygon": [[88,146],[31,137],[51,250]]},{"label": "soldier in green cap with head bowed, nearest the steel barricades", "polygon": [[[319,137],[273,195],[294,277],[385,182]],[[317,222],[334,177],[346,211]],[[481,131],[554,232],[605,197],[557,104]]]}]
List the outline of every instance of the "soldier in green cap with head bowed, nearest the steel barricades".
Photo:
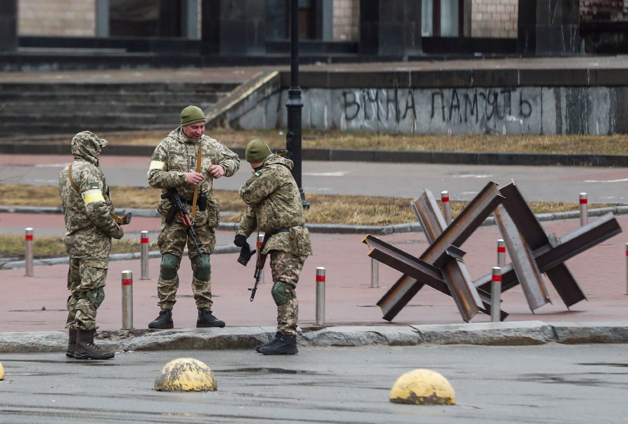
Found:
[{"label": "soldier in green cap with head bowed, nearest the steel barricades", "polygon": [[271,235],[262,253],[269,253],[271,258],[274,281],[271,294],[277,305],[275,339],[255,350],[265,355],[296,354],[299,302],[295,289],[301,268],[308,255],[312,255],[312,245],[310,233],[304,227],[299,188],[290,172],[294,163],[271,153],[259,139],[246,146],[246,161],[253,168],[253,176],[239,190],[248,207],[239,222],[234,244],[246,245],[246,239],[256,228]]}]

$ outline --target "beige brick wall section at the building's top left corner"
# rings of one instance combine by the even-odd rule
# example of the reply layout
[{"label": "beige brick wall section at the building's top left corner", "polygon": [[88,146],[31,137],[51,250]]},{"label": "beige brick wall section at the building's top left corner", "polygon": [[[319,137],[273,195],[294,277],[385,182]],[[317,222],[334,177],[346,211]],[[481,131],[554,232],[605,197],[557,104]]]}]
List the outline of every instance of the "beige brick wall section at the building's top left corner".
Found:
[{"label": "beige brick wall section at the building's top left corner", "polygon": [[96,0],[18,0],[17,34],[93,37]]}]

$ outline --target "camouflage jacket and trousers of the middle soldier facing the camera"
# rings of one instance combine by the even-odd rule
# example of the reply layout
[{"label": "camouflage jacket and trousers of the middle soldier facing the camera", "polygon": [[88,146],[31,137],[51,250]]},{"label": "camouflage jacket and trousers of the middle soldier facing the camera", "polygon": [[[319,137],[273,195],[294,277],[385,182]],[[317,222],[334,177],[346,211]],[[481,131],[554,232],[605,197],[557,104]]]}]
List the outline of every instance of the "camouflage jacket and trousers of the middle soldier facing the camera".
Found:
[{"label": "camouflage jacket and trousers of the middle soldier facing the camera", "polygon": [[199,195],[201,193],[207,195],[207,209],[200,211],[197,205],[193,223],[196,239],[203,255],[199,257],[192,239],[188,239],[186,226],[178,214],[175,215],[170,225],[166,224],[165,215],[170,209],[170,200],[163,199],[157,206],[157,210],[162,215],[157,244],[161,255],[169,255],[166,258],[174,258],[175,264],[172,265],[174,267],[172,275],[162,275],[164,269],[164,259],[162,259],[162,271],[157,283],[158,305],[161,310],[172,310],[174,303],[177,302],[178,271],[186,243],[188,257],[192,262],[192,291],[197,308],[211,309],[213,304],[211,300],[211,272],[197,272],[200,266],[209,270],[209,255],[214,252],[216,246],[215,227],[218,226],[220,213],[218,201],[212,198],[214,179],[206,170],[210,165],[221,165],[225,169],[225,176],[232,176],[240,167],[239,157],[216,139],[207,135],[203,135],[198,142],[195,142],[186,137],[182,128],[179,127],[170,132],[156,147],[151,157],[148,182],[151,187],[162,188],[164,192],[167,188],[176,188],[181,202],[184,203],[191,216],[195,186],[186,182],[185,173],[196,170],[197,146],[202,147],[200,172],[205,176],[204,181],[199,185]]}]

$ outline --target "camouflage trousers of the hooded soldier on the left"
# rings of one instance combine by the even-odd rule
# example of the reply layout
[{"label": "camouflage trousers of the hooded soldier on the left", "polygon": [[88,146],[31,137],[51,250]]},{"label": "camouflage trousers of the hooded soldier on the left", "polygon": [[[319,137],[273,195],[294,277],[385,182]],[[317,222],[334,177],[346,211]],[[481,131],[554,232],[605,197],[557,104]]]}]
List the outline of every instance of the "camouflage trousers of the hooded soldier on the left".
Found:
[{"label": "camouflage trousers of the hooded soldier on the left", "polygon": [[96,310],[105,299],[108,258],[70,257],[68,269],[68,320],[66,328],[96,329]]}]

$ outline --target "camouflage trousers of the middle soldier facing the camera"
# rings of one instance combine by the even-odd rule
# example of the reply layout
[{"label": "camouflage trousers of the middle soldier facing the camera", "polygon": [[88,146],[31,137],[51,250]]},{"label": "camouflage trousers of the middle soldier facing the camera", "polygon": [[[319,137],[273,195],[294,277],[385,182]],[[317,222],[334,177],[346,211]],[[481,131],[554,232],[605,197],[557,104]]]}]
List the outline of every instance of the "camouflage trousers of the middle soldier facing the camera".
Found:
[{"label": "camouflage trousers of the middle soldier facing the camera", "polygon": [[[194,231],[196,232],[196,241],[200,245],[201,252],[211,255],[216,247],[216,231],[214,227],[209,227],[207,220],[205,220],[202,225],[194,225]],[[184,248],[187,245],[188,257],[192,263],[192,293],[194,294],[196,307],[198,309],[211,309],[211,305],[214,304],[211,300],[211,276],[207,279],[196,278],[198,266],[195,259],[198,257],[198,252],[196,251],[192,238],[188,236],[186,227],[182,225],[179,220],[173,220],[172,224],[166,225],[162,219],[161,232],[157,237],[157,245],[162,255],[170,253],[170,255],[174,255],[178,258],[183,256]],[[177,275],[174,278],[162,278],[162,273],[160,272],[159,279],[157,280],[157,297],[159,298],[157,304],[160,309],[172,310],[174,303],[177,303],[180,265],[181,263],[179,262],[177,265]]]}]

